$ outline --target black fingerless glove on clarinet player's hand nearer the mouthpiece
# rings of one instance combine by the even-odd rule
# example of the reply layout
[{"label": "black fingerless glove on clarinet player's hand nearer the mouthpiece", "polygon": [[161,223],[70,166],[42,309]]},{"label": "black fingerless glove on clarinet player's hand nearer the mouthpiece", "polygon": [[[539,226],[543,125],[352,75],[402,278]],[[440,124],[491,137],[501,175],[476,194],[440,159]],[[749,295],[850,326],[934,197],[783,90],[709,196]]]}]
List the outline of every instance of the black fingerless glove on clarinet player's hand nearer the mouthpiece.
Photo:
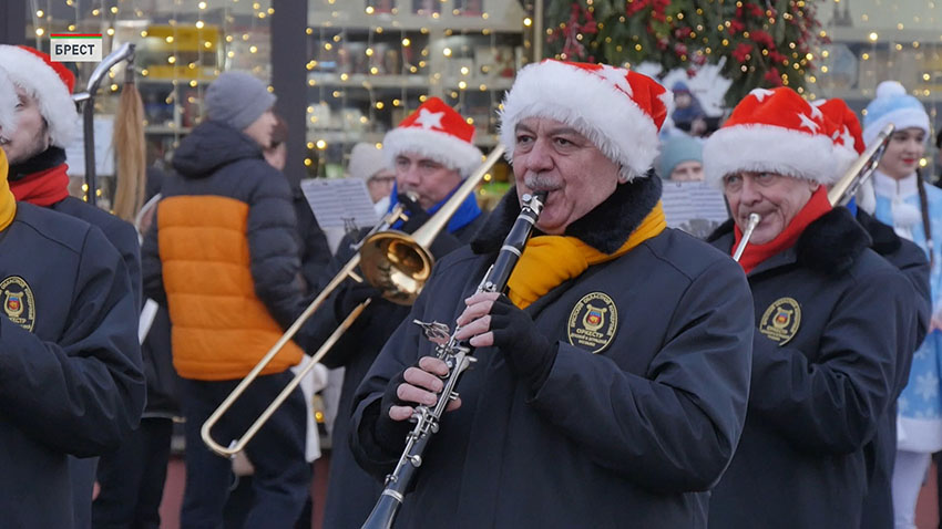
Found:
[{"label": "black fingerless glove on clarinet player's hand nearer the mouthpiece", "polygon": [[494,346],[506,359],[514,376],[536,390],[550,375],[559,345],[550,343],[530,318],[501,294],[491,308],[491,332]]}]

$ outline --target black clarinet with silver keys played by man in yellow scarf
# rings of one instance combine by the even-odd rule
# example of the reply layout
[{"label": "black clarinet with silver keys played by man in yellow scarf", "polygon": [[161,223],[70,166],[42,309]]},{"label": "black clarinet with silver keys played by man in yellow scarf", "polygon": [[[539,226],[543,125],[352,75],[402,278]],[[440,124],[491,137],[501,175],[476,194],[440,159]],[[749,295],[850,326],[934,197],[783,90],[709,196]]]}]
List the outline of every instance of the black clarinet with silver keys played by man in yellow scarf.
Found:
[{"label": "black clarinet with silver keys played by man in yellow scarf", "polygon": [[[540,218],[545,198],[545,193],[523,196],[524,205],[520,216],[516,217],[510,234],[504,239],[496,260],[478,284],[478,293],[503,292],[506,288],[508,279],[510,279],[510,274],[513,272],[521,252],[523,252],[523,247],[526,246],[526,240],[530,239],[533,226]],[[439,394],[436,405],[432,407],[424,405],[414,407],[410,421],[414,422],[416,426],[406,438],[406,449],[399,457],[399,463],[396,464],[392,474],[386,476],[382,494],[369,518],[364,522],[362,529],[389,529],[392,527],[396,514],[406,499],[406,490],[414,479],[416,471],[422,465],[422,454],[426,453],[426,446],[428,446],[432,434],[439,431],[439,423],[444,408],[451,401],[458,398],[458,392],[454,391],[458,380],[478,360],[473,356],[473,348],[454,339],[460,328],[449,333],[448,325],[444,323],[426,323],[419,320],[414,320],[413,323],[421,326],[426,339],[436,344],[436,356],[444,361],[449,373],[442,378],[444,387]]]}]

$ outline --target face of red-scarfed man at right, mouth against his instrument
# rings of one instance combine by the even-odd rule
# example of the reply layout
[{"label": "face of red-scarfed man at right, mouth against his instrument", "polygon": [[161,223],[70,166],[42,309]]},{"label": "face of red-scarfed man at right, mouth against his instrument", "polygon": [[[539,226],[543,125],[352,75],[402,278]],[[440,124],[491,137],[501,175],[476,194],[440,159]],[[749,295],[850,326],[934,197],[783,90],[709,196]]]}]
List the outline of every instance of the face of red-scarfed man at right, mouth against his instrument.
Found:
[{"label": "face of red-scarfed man at right, mouth against his instrument", "polygon": [[733,220],[741,231],[746,231],[749,214],[762,217],[749,239],[754,245],[764,245],[778,237],[817,188],[817,183],[775,173],[741,172],[723,178],[723,191],[729,201]]}]

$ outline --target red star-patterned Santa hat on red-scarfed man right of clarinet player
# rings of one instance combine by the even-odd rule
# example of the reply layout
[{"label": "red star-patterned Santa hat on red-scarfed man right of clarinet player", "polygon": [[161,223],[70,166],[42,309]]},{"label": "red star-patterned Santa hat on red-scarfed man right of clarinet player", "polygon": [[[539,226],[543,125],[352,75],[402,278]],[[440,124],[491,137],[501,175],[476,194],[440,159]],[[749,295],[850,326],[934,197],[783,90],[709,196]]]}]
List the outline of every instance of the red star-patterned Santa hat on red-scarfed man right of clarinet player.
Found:
[{"label": "red star-patterned Santa hat on red-scarfed man right of clarinet player", "polygon": [[835,156],[835,124],[789,87],[749,92],[704,145],[707,181],[743,170],[832,184],[843,162]]}]

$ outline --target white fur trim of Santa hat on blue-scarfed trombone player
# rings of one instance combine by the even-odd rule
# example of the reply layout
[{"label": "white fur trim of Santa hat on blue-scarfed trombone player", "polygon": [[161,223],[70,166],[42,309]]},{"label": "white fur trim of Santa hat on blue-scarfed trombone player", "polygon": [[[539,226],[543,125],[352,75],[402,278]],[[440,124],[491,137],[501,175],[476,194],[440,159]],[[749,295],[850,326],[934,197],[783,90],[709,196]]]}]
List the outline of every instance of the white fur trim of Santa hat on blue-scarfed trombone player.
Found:
[{"label": "white fur trim of Santa hat on blue-scarfed trombone player", "polygon": [[451,134],[420,127],[396,127],[382,139],[382,154],[390,168],[402,153],[412,153],[461,173],[467,178],[482,162],[483,154],[474,145]]}]

